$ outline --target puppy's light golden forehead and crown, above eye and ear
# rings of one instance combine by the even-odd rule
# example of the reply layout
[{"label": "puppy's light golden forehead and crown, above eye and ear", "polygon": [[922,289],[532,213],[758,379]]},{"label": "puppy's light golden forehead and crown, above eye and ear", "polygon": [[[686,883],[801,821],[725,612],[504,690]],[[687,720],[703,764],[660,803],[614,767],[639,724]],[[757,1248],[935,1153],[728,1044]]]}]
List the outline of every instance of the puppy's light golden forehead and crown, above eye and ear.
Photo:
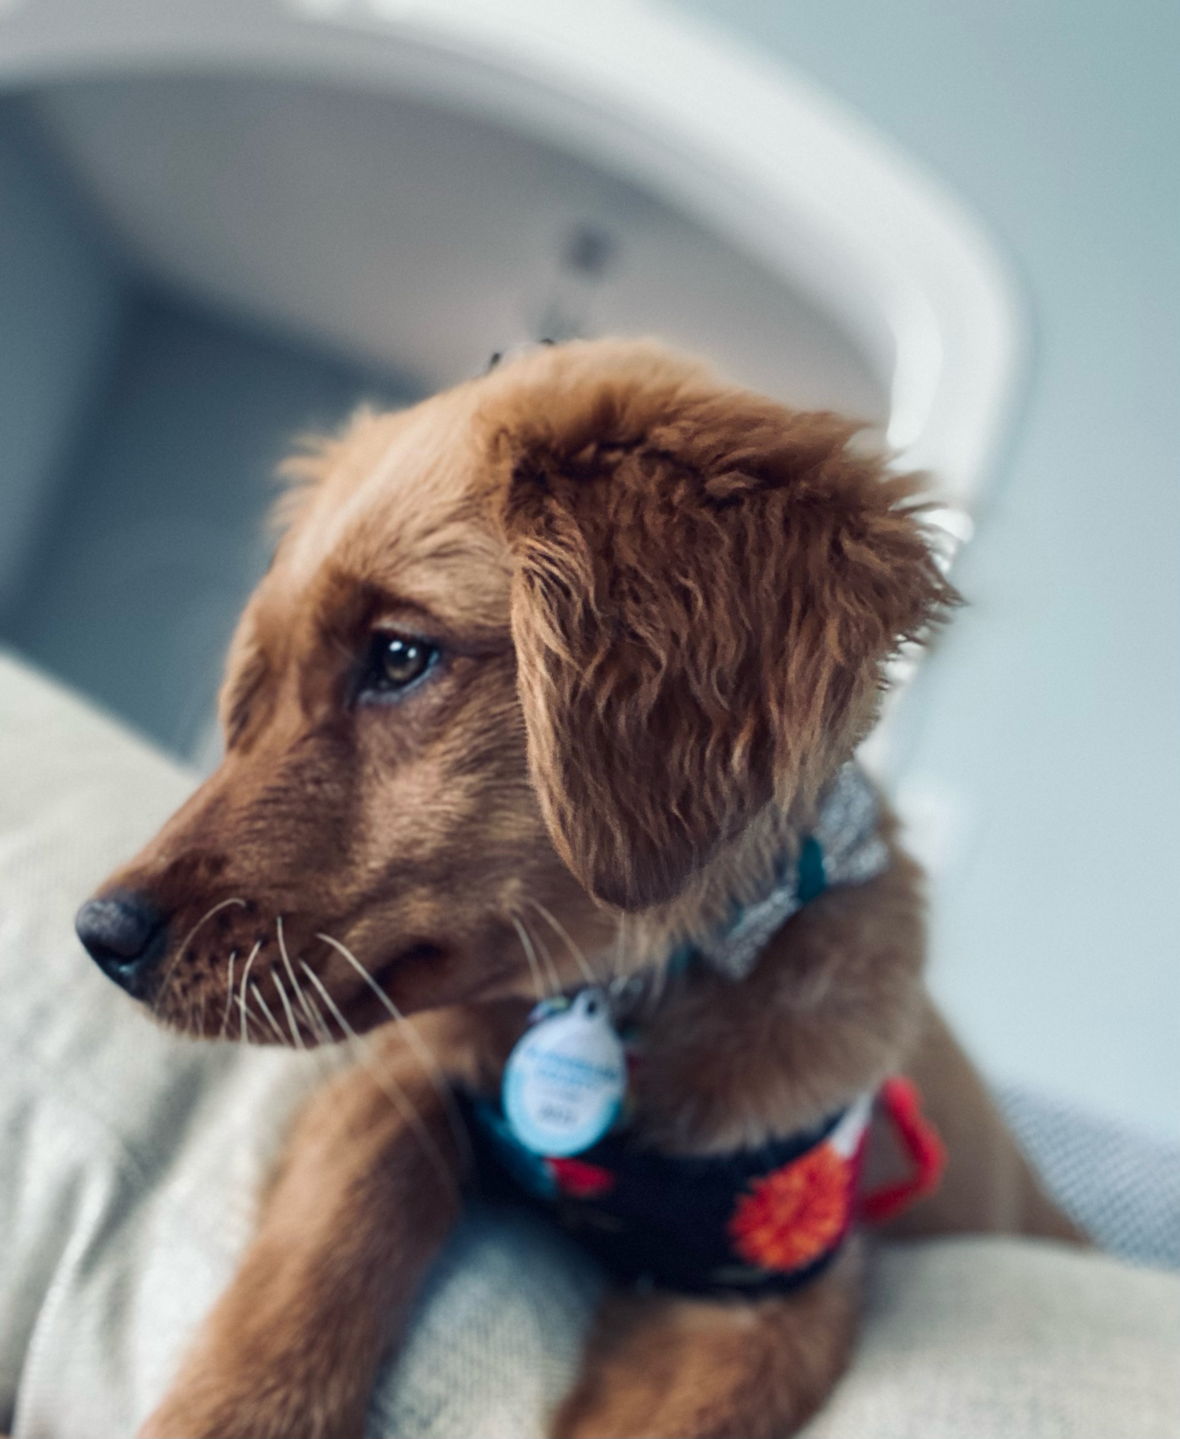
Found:
[{"label": "puppy's light golden forehead and crown, above eye and ear", "polygon": [[330,448],[265,587],[279,609],[350,586],[386,591],[456,629],[507,632],[511,566],[492,519],[507,482],[494,450],[633,439],[707,373],[649,341],[537,348],[394,414],[360,417]]}]

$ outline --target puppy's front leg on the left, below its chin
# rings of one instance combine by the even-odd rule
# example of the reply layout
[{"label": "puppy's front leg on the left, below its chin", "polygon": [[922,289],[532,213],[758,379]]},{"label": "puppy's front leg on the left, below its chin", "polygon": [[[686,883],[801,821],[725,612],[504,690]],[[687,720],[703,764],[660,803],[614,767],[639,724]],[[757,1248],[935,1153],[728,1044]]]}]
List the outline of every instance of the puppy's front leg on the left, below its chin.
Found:
[{"label": "puppy's front leg on the left, below its chin", "polygon": [[299,1118],[242,1266],[141,1435],[358,1439],[458,1180],[439,1095],[378,1040]]}]

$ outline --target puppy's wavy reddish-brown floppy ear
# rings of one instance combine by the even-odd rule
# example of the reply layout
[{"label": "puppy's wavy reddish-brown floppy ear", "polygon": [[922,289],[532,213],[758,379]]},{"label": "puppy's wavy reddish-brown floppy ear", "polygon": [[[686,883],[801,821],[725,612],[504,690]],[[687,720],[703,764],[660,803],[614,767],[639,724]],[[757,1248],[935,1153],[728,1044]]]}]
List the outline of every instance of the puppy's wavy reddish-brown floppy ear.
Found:
[{"label": "puppy's wavy reddish-brown floppy ear", "polygon": [[532,780],[574,875],[639,909],[817,787],[956,596],[848,422],[695,370],[532,400],[495,442]]}]

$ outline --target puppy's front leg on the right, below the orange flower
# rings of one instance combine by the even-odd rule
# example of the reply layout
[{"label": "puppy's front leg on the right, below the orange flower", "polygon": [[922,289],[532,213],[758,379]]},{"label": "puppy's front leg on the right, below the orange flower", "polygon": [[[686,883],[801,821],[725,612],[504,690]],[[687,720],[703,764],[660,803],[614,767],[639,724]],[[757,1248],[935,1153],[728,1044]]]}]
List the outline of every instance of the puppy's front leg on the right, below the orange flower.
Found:
[{"label": "puppy's front leg on the right, below the orange flower", "polygon": [[856,1335],[861,1240],[794,1294],[606,1299],[558,1439],[786,1439],[827,1399]]}]

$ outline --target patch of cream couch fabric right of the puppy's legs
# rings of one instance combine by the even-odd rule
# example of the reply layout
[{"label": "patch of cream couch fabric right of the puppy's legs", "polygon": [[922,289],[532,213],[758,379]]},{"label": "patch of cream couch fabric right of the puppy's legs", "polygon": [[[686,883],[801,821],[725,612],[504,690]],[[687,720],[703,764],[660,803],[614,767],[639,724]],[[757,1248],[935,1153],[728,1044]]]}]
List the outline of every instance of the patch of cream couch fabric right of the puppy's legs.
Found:
[{"label": "patch of cream couch fabric right of the puppy's legs", "polygon": [[1174,1439],[1177,1341],[1174,1275],[1017,1239],[897,1246],[807,1439]]}]

